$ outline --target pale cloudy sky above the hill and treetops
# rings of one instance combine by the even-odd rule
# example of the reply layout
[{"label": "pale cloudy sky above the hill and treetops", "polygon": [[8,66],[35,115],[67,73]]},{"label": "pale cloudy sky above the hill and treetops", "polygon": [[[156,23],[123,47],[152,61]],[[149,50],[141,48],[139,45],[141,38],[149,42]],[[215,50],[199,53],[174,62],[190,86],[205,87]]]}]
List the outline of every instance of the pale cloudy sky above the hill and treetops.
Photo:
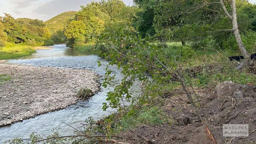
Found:
[{"label": "pale cloudy sky above the hill and treetops", "polygon": [[[80,5],[100,0],[0,0],[0,16],[11,14],[14,18],[27,17],[46,21],[65,11],[79,10]],[[131,5],[132,0],[123,0]],[[250,0],[256,3],[256,0]]]}]

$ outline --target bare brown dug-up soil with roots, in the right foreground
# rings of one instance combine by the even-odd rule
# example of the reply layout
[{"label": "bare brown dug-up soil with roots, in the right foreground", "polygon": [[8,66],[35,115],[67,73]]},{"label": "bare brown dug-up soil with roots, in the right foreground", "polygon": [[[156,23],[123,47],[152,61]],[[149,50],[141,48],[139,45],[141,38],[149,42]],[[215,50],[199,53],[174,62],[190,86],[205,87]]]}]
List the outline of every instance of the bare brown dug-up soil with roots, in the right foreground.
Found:
[{"label": "bare brown dug-up soil with roots, in the right foreground", "polygon": [[[197,89],[207,118],[210,130],[218,144],[255,144],[256,143],[256,87],[238,85],[238,87],[219,87],[216,90]],[[247,88],[248,89],[247,89]],[[235,98],[232,91],[243,91],[244,97]],[[223,93],[232,92],[232,93]],[[222,93],[222,94],[221,94]],[[248,94],[250,93],[250,94]],[[141,144],[212,144],[205,127],[189,104],[185,94],[168,99],[161,107],[173,121],[162,125],[140,125],[121,133],[118,140],[126,143]],[[191,123],[185,125],[177,121],[180,116],[187,116]],[[204,119],[206,116],[202,113]],[[223,124],[249,124],[249,132],[244,137],[223,137]]]}]

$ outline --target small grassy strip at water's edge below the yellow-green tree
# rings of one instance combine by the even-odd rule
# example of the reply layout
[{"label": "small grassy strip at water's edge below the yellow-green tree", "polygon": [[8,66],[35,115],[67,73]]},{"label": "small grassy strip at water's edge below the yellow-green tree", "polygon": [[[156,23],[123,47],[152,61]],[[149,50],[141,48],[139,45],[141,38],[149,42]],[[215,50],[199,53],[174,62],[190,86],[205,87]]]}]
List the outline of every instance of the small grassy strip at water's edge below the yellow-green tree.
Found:
[{"label": "small grassy strip at water's edge below the yellow-green tree", "polygon": [[73,48],[73,50],[81,52],[81,53],[85,53],[87,55],[96,55],[97,54],[97,51],[95,50],[95,45],[91,45],[91,44],[88,44],[88,45],[76,45]]}]

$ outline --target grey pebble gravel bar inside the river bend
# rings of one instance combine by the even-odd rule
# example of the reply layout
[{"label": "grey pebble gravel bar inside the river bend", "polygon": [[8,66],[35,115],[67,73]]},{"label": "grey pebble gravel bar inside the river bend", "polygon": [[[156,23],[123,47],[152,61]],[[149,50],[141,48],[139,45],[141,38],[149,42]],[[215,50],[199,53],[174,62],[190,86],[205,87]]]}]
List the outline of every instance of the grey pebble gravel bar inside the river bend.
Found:
[{"label": "grey pebble gravel bar inside the river bend", "polygon": [[99,75],[87,69],[59,69],[0,61],[0,127],[75,104],[80,88],[96,93]]}]

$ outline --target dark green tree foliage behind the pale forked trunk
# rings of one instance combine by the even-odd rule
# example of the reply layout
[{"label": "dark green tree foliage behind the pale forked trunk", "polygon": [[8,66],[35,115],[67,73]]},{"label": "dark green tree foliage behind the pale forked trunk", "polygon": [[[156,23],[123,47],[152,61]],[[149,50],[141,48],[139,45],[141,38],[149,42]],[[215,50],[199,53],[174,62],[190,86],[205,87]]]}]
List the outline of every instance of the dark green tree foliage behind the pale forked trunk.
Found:
[{"label": "dark green tree foliage behind the pale forked trunk", "polygon": [[[141,35],[145,35],[149,29],[141,25],[141,21],[152,21],[155,37],[166,41],[186,41],[204,45],[206,41],[213,39],[215,45],[224,48],[223,43],[232,35],[232,31],[220,31],[232,29],[232,22],[225,15],[219,1],[136,0],[135,3],[143,9],[144,14],[150,9],[153,12],[153,20],[148,16],[138,15],[140,21],[137,21],[136,26]],[[230,11],[229,4],[226,2],[225,5]],[[255,32],[255,5],[237,0],[236,7],[241,35],[250,30]]]}]

